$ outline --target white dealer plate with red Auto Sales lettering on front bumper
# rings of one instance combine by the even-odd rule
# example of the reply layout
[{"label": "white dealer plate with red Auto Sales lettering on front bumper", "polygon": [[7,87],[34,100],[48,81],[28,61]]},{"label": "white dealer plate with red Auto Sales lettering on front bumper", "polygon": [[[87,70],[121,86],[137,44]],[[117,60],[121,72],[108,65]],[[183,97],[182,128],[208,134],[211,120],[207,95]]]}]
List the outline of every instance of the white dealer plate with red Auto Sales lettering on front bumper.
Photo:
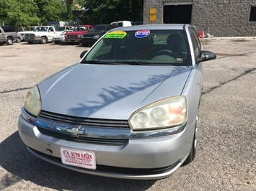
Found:
[{"label": "white dealer plate with red Auto Sales lettering on front bumper", "polygon": [[96,158],[94,152],[61,147],[61,162],[75,167],[96,169]]}]

